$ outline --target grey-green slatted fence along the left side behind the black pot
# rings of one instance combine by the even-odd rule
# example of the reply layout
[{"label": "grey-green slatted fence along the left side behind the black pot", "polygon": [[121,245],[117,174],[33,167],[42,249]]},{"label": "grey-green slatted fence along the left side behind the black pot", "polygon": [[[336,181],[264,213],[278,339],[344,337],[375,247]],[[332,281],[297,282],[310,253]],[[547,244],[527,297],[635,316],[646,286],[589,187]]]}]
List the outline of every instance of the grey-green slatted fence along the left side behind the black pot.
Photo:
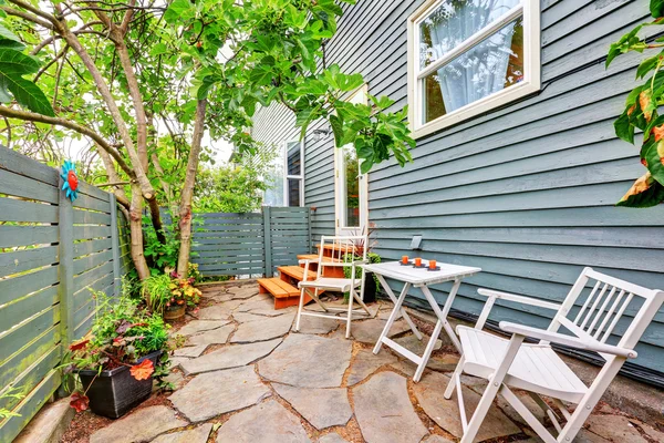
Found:
[{"label": "grey-green slatted fence along the left side behind the black pot", "polygon": [[72,204],[61,188],[56,169],[0,147],[0,409],[19,414],[0,442],[61,384],[61,358],[94,317],[90,289],[117,296],[131,266],[115,197],[81,182]]}]

